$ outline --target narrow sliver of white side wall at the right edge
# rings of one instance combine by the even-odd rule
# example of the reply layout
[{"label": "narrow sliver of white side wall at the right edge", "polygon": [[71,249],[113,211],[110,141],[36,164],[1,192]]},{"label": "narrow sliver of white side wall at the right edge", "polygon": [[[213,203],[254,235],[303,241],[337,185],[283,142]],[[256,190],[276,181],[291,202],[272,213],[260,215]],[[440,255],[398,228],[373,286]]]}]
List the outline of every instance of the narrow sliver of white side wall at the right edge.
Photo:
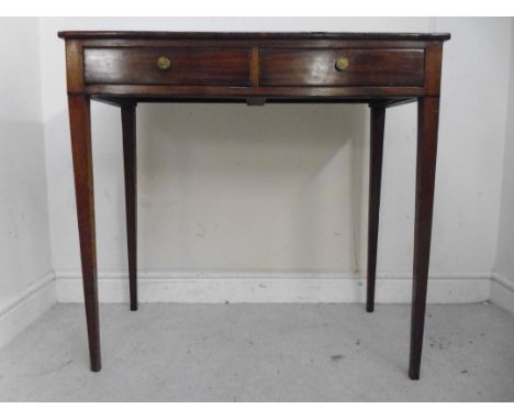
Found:
[{"label": "narrow sliver of white side wall at the right edge", "polygon": [[498,231],[498,251],[492,298],[514,312],[514,25],[511,31],[511,68],[509,85],[507,124],[503,155],[503,184]]}]

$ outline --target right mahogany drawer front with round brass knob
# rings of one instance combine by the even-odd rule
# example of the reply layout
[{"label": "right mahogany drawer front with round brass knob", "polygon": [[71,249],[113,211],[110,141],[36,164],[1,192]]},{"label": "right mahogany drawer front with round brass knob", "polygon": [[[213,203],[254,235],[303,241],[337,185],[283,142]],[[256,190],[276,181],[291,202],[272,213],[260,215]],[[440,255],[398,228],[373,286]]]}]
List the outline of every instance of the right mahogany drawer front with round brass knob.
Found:
[{"label": "right mahogany drawer front with round brass knob", "polygon": [[260,85],[420,87],[424,62],[424,49],[264,48]]}]

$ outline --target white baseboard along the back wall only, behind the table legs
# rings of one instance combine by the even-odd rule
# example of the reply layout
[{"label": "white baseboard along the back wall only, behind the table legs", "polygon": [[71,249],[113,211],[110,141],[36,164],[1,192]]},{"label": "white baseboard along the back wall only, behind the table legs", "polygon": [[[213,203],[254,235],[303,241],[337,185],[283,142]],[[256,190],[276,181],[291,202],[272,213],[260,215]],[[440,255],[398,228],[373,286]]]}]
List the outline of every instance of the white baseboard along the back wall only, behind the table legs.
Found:
[{"label": "white baseboard along the back wall only, behind the table legs", "polygon": [[[362,302],[366,279],[351,274],[298,273],[167,273],[138,274],[141,302]],[[427,301],[468,303],[490,298],[489,274],[432,275]],[[82,302],[81,275],[56,273],[57,300]],[[411,301],[412,277],[409,274],[381,275],[377,279],[377,302]],[[125,273],[99,274],[101,302],[128,301]]]}]

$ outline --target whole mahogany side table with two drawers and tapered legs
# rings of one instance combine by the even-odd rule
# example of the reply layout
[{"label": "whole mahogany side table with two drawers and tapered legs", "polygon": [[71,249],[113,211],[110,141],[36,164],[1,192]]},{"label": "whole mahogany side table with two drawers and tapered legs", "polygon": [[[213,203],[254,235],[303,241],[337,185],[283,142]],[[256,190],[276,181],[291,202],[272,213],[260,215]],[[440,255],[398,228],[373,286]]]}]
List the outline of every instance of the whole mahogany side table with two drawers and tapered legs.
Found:
[{"label": "whole mahogany side table with two drawers and tapered legs", "polygon": [[409,376],[420,378],[446,33],[59,32],[91,371],[101,368],[90,100],[121,108],[131,309],[137,309],[138,102],[351,102],[371,109],[368,312],[373,311],[386,109],[417,102]]}]

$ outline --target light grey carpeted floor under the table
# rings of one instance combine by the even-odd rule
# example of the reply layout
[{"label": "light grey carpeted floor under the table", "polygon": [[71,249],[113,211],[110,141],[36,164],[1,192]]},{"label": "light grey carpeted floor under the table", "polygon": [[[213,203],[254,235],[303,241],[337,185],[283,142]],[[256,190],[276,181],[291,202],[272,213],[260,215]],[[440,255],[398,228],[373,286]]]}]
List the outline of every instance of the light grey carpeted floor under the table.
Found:
[{"label": "light grey carpeted floor under the table", "polygon": [[0,351],[2,401],[513,401],[514,317],[429,306],[422,378],[410,307],[101,306],[89,372],[83,308],[57,305]]}]

